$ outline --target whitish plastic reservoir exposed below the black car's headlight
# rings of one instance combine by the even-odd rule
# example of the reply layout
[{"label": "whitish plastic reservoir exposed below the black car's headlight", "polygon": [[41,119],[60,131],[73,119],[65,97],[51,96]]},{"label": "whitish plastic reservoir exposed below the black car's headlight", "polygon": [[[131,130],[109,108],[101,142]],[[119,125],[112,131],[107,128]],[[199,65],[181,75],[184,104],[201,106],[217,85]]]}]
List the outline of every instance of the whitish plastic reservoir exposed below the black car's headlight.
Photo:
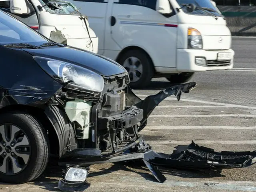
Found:
[{"label": "whitish plastic reservoir exposed below the black car's headlight", "polygon": [[83,137],[89,138],[90,112],[92,108],[91,102],[68,101],[65,106],[65,112],[71,122],[78,122],[83,130]]}]

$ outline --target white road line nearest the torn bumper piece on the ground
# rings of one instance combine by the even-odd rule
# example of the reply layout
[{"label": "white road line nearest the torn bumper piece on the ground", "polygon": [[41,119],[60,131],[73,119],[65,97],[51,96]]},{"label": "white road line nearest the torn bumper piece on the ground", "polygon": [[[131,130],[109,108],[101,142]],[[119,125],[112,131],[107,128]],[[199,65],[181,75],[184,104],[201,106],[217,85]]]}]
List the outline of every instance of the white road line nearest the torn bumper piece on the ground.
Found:
[{"label": "white road line nearest the torn bumper piece on the ground", "polygon": [[[247,140],[247,141],[209,141],[209,140],[193,140],[196,144],[230,144],[230,145],[236,145],[236,144],[256,144],[256,140]],[[191,141],[176,141],[176,140],[151,140],[147,141],[148,144],[161,146],[163,144],[191,144]]]}]

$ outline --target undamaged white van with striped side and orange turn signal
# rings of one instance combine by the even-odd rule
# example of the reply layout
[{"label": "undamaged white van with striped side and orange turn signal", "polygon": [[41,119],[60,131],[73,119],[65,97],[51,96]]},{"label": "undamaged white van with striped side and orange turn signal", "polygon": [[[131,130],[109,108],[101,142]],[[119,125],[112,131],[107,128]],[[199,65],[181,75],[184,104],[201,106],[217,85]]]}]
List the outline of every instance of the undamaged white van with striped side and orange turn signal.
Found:
[{"label": "undamaged white van with striped side and orange turn signal", "polygon": [[132,86],[152,77],[182,83],[194,72],[233,67],[230,30],[210,0],[67,1],[86,13],[98,54],[123,65]]}]

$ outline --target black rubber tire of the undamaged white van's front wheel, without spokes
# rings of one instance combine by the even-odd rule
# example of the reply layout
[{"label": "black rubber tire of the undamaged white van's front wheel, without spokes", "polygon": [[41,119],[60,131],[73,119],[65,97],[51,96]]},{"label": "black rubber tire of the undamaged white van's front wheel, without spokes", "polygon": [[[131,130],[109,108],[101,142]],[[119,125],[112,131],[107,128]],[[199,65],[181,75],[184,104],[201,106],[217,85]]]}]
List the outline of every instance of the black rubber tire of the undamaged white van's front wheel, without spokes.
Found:
[{"label": "black rubber tire of the undamaged white van's front wheel, without spokes", "polygon": [[[141,66],[142,66],[142,74],[140,75],[140,78],[138,80],[133,80],[131,78],[132,71],[129,69],[128,63],[129,61],[136,61],[136,59],[139,60]],[[138,61],[136,63],[139,63]],[[148,86],[151,82],[151,79],[154,75],[154,68],[153,63],[149,56],[142,50],[129,50],[125,52],[122,57],[119,60],[119,63],[126,68],[126,70],[129,73],[130,76],[130,87],[132,88],[144,88]],[[139,66],[140,66],[139,64]],[[141,68],[140,66],[140,68]],[[138,72],[138,71],[136,71]]]}]

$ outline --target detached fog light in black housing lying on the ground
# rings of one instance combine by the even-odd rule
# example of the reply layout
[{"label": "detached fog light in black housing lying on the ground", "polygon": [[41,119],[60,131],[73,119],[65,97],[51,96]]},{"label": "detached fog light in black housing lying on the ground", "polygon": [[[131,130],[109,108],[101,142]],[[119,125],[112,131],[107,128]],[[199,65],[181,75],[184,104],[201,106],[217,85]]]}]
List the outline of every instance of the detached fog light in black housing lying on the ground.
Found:
[{"label": "detached fog light in black housing lying on the ground", "polygon": [[58,189],[61,191],[84,191],[90,186],[86,182],[89,167],[66,165],[66,170],[62,171],[63,178],[58,183]]}]

